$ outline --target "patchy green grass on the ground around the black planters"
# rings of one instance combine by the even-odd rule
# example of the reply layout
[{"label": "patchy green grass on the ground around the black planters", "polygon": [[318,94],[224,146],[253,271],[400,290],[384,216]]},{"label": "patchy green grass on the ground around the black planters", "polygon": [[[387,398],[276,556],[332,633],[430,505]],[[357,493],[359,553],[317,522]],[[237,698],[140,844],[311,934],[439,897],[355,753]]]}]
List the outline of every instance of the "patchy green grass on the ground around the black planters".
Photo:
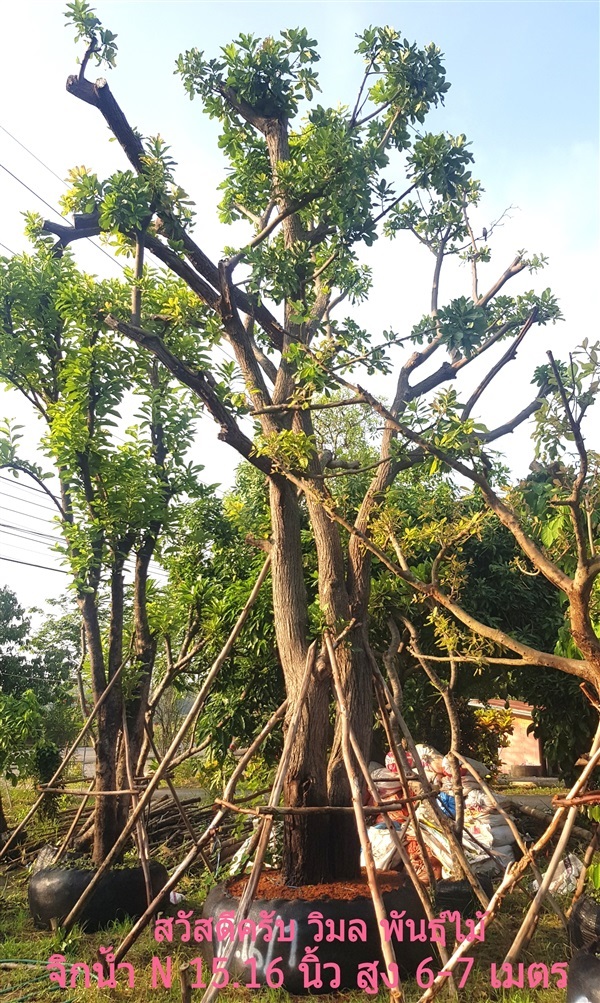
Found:
[{"label": "patchy green grass on the ground around the black planters", "polygon": [[[14,821],[22,817],[31,803],[33,791],[25,787],[11,790],[12,810],[9,811]],[[8,807],[8,805],[7,805]],[[47,819],[32,820],[28,826],[30,837],[37,839],[56,838],[57,823]],[[173,862],[172,862],[173,863]],[[85,989],[82,985],[67,990],[54,987],[49,983],[47,973],[42,967],[51,954],[64,954],[68,962],[76,960],[91,964],[96,960],[96,952],[100,945],[116,946],[127,933],[130,924],[114,924],[109,930],[99,934],[85,934],[74,928],[69,934],[61,931],[48,933],[35,930],[27,909],[28,873],[23,869],[12,871],[2,876],[0,872],[0,962],[2,960],[28,959],[36,961],[40,967],[23,965],[10,971],[0,969],[0,1003],[136,1003],[141,1000],[152,1000],[153,1003],[181,1003],[179,986],[179,966],[187,959],[197,957],[198,945],[158,944],[154,940],[152,929],[144,931],[127,956],[135,972],[135,987],[126,987],[126,979],[118,989]],[[528,879],[526,879],[526,883]],[[206,875],[202,872],[188,874],[178,886],[178,890],[186,896],[185,903],[179,907],[193,909],[199,914],[206,895]],[[490,984],[490,966],[500,965],[515,936],[525,911],[529,905],[525,892],[518,890],[507,900],[499,918],[488,932],[484,944],[474,945],[470,953],[475,956],[476,964],[471,972],[466,987],[460,992],[461,1003],[488,1003],[494,1000],[498,1003],[564,1003],[563,990],[512,990],[504,992],[495,990]],[[152,988],[151,968],[153,957],[165,959],[172,957],[173,987]],[[553,962],[567,960],[566,938],[558,919],[552,913],[545,913],[534,938],[531,949],[524,956],[526,965],[532,962],[545,962],[549,967]],[[193,972],[194,972],[193,968]],[[124,974],[124,973],[123,973]],[[122,976],[121,976],[122,978]],[[208,981],[208,979],[205,979]],[[406,1003],[416,1003],[423,989],[419,988],[414,979],[403,983]],[[199,1003],[202,996],[200,989],[194,991],[193,999]],[[366,996],[359,991],[325,997],[325,1003],[330,999],[339,1001],[341,998],[349,1003],[365,1003],[374,999],[383,1003],[389,999],[387,992],[381,992],[378,997]],[[298,998],[301,999],[301,998]],[[437,997],[447,1000],[443,990]],[[256,991],[245,989],[226,989],[221,993],[223,1003],[289,1003],[290,996],[273,989]]]}]

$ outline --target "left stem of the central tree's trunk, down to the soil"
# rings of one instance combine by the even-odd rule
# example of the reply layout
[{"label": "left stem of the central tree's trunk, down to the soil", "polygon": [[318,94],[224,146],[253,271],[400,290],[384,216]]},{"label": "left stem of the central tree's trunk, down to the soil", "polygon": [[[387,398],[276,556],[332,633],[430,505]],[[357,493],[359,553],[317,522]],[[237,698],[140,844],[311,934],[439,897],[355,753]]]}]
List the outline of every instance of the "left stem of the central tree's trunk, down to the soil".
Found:
[{"label": "left stem of the central tree's trunk, down to the soil", "polygon": [[[284,477],[270,482],[272,526],[272,581],[275,633],[279,657],[293,713],[308,653],[308,610],[300,510],[296,491]],[[293,807],[327,803],[327,739],[329,684],[314,678],[292,749],[284,784],[285,803]],[[283,873],[290,885],[313,885],[328,880],[326,814],[289,815],[284,826]]]}]

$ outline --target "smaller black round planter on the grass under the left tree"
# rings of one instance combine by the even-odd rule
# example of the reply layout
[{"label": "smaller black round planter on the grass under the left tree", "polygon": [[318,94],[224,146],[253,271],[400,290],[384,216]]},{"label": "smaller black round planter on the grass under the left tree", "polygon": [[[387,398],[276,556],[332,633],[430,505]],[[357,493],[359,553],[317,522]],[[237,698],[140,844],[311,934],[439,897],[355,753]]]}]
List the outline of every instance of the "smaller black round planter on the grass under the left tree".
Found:
[{"label": "smaller black round planter on the grass under the left tree", "polygon": [[[162,864],[151,863],[154,895],[158,895],[169,879]],[[44,868],[29,882],[29,910],[37,927],[45,930],[53,923],[60,926],[93,878],[93,871],[74,868]],[[77,923],[86,931],[101,930],[115,920],[138,919],[145,911],[147,899],[143,871],[122,868],[108,871],[100,878],[85,903]],[[169,905],[169,894],[158,910]]]}]

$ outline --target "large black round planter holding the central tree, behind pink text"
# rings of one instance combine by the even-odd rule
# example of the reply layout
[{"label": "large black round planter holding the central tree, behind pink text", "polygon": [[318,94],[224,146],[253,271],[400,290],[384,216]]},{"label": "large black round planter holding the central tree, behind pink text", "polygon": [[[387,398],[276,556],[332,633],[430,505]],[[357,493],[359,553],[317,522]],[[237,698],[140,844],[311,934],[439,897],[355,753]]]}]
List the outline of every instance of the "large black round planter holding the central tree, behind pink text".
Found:
[{"label": "large black round planter holding the central tree, behind pink text", "polygon": [[[398,889],[385,892],[383,902],[389,916],[390,910],[398,913],[405,913],[405,919],[413,919],[417,925],[420,920],[425,919],[425,914],[420,900],[408,882],[404,882]],[[218,885],[208,896],[204,908],[203,917],[213,919],[213,939],[202,944],[204,958],[209,965],[209,971],[215,957],[223,957],[226,954],[227,943],[221,943],[216,938],[215,921],[225,912],[235,914],[239,905],[239,898],[230,895],[226,885]],[[457,908],[457,907],[455,907]],[[373,904],[370,897],[359,897],[355,899],[333,900],[322,899],[304,901],[302,899],[255,899],[250,907],[248,919],[259,923],[260,913],[275,913],[275,917],[283,921],[285,928],[289,931],[290,921],[295,921],[296,936],[292,943],[281,942],[273,939],[265,942],[264,932],[261,930],[252,944],[245,941],[238,943],[232,963],[229,968],[229,984],[235,987],[236,984],[246,985],[252,982],[254,973],[256,981],[261,985],[269,985],[266,978],[266,969],[269,964],[277,961],[277,969],[283,973],[281,988],[288,993],[297,996],[307,994],[329,993],[330,976],[327,971],[321,969],[323,978],[322,988],[307,988],[304,984],[304,976],[298,970],[298,964],[302,962],[305,950],[309,947],[318,948],[318,962],[321,966],[329,962],[335,962],[340,968],[340,984],[336,989],[356,989],[357,966],[363,962],[379,961],[379,972],[385,972],[385,965],[381,956],[381,945],[379,940],[378,925],[375,919]],[[340,920],[347,923],[351,919],[364,920],[367,927],[367,940],[350,942],[348,940],[327,942],[322,940],[315,943],[315,927],[307,923],[309,913],[318,911],[323,914],[325,920],[332,919],[336,926]],[[398,963],[400,978],[412,975],[418,965],[426,958],[433,958],[430,964],[431,969],[437,972],[440,965],[437,961],[437,953],[434,944],[427,942],[409,940],[398,941],[392,937],[391,942],[394,947],[395,956]],[[249,956],[254,958],[254,965],[245,964]],[[222,977],[219,977],[222,979]],[[208,981],[208,978],[206,979]],[[279,986],[277,986],[279,988]]]}]

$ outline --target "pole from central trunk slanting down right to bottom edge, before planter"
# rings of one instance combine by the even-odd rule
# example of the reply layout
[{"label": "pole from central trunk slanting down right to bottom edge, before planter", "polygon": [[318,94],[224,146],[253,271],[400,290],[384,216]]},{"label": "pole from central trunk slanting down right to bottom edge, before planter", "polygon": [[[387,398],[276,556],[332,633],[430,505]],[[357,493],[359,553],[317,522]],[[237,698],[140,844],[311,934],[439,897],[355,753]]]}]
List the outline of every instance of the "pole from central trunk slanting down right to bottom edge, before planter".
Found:
[{"label": "pole from central trunk slanting down right to bottom edge, before planter", "polygon": [[[400,982],[399,974],[397,976],[397,985],[393,985],[393,968],[395,967],[396,972],[398,971],[395,952],[393,949],[393,944],[391,941],[385,939],[383,921],[387,920],[387,913],[385,911],[385,905],[383,903],[383,897],[379,890],[379,885],[377,882],[377,872],[375,869],[375,863],[373,861],[373,852],[371,849],[370,840],[366,830],[366,822],[364,819],[364,812],[362,810],[362,797],[360,790],[360,783],[358,782],[358,776],[354,769],[352,763],[352,755],[350,752],[350,725],[348,723],[348,712],[346,709],[346,704],[344,700],[344,693],[341,685],[341,680],[339,676],[339,669],[337,665],[337,658],[335,657],[335,651],[333,650],[333,644],[331,643],[331,637],[327,631],[324,634],[325,645],[327,648],[327,654],[329,656],[329,664],[331,666],[331,675],[333,678],[333,685],[335,689],[335,695],[337,698],[337,706],[340,714],[341,720],[341,748],[342,755],[344,759],[344,765],[346,767],[346,773],[348,774],[348,780],[350,783],[350,791],[352,794],[352,804],[354,806],[354,814],[356,817],[356,827],[358,829],[358,838],[360,840],[360,846],[362,847],[362,853],[364,856],[364,863],[366,868],[366,877],[369,886],[369,892],[371,893],[371,899],[373,901],[373,911],[375,913],[375,918],[377,920],[377,928],[379,933],[379,940],[381,944],[381,954],[383,956],[383,961],[385,963],[385,968],[387,969],[387,978],[390,982],[389,996],[391,1000],[395,1000],[396,1003],[403,1003],[404,993],[402,991],[402,984]],[[367,770],[368,773],[368,770]]]}]

